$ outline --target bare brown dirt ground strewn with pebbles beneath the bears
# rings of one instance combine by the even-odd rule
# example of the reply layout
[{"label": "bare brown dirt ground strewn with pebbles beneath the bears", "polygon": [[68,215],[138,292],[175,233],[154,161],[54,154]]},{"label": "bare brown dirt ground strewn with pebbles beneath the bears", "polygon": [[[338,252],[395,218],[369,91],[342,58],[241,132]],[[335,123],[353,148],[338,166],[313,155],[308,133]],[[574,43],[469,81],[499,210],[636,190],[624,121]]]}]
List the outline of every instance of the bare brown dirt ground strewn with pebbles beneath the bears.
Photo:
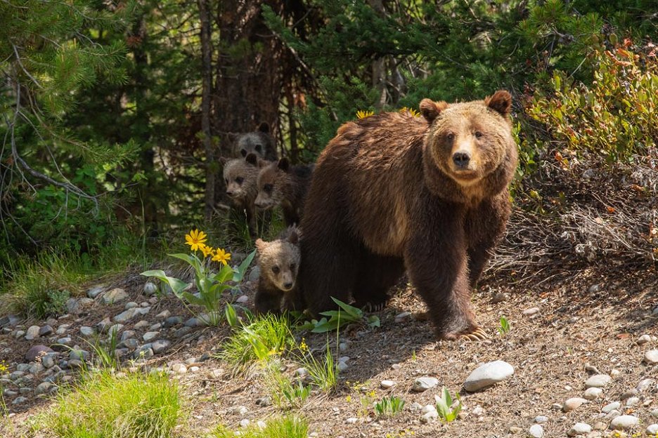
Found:
[{"label": "bare brown dirt ground strewn with pebbles beneath the bears", "polygon": [[[646,380],[658,379],[658,366],[644,359],[645,352],[658,349],[656,270],[592,267],[562,272],[560,278],[537,277],[522,284],[510,284],[510,279],[501,277],[486,278],[473,296],[479,324],[490,336],[484,342],[437,342],[430,321],[416,317],[424,310],[422,300],[411,286],[401,287],[387,308],[377,313],[379,328],[347,328],[339,335],[340,343],[347,345],[340,352],[335,348],[335,333],[330,333],[329,343],[336,355],[349,357],[347,369],[340,373],[335,392],[314,390],[294,411],[309,420],[309,432],[314,437],[527,437],[538,416],[546,417],[541,425],[543,437],[567,437],[578,422],[592,427],[582,435],[585,437],[626,436],[609,428],[610,420],[619,414],[639,418],[639,424],[626,432],[628,436],[646,436],[647,426],[658,423],[654,417],[658,415],[658,385],[656,380]],[[127,300],[145,300],[141,296],[143,280],[132,277],[120,285],[129,295]],[[245,293],[252,298],[249,287]],[[80,326],[93,326],[123,306],[93,303],[88,312],[66,320],[71,324],[68,332],[79,333]],[[534,307],[536,310],[530,310]],[[191,316],[176,298],[164,297],[153,304],[145,318],[153,322],[154,315],[163,310],[183,318]],[[402,312],[411,315],[396,321]],[[504,335],[497,330],[501,317],[510,323],[510,331]],[[20,324],[27,327],[33,323],[43,321]],[[127,323],[124,331],[134,328],[131,324]],[[141,337],[146,328],[137,331]],[[186,373],[170,374],[179,381],[184,410],[189,413],[185,424],[177,429],[180,436],[200,437],[218,424],[238,430],[245,419],[253,423],[280,413],[274,405],[257,404],[269,394],[257,367],[233,375],[226,364],[212,357],[229,334],[226,325],[194,328],[180,339],[170,337],[172,345],[167,351],[148,359],[148,366],[169,368],[188,361]],[[643,335],[649,335],[648,340],[646,336],[640,340]],[[321,347],[328,338],[325,334],[304,336],[311,348]],[[10,366],[20,363],[27,348],[37,343],[16,340],[15,330],[0,334],[0,348],[7,352],[2,359]],[[211,357],[201,361],[208,353]],[[475,393],[463,390],[465,379],[477,366],[496,360],[514,367],[511,378]],[[286,372],[292,375],[299,365],[286,363]],[[8,372],[12,371],[10,367]],[[565,401],[583,397],[584,383],[593,373],[612,376],[602,396],[565,412]],[[439,384],[425,392],[413,392],[413,382],[421,376],[437,378]],[[382,389],[382,380],[392,380],[395,385]],[[638,387],[643,380],[644,385]],[[451,394],[460,392],[460,418],[447,424],[440,420],[423,423],[422,412],[414,404],[434,404],[434,395],[441,387]],[[389,394],[406,401],[404,410],[392,418],[376,417],[373,401]],[[49,409],[53,399],[32,394],[26,397],[23,404],[6,400],[11,414],[0,423],[1,437],[50,436],[31,432],[27,424]],[[602,407],[613,401],[621,403],[617,412],[602,413]]]}]

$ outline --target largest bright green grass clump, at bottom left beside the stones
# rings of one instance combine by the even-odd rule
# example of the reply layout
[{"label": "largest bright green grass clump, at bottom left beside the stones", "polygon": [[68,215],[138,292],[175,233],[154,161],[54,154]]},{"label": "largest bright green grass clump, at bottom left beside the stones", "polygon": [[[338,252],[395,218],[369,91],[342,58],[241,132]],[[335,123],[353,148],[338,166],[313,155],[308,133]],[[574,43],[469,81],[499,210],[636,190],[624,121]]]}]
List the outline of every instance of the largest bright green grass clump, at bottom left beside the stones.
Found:
[{"label": "largest bright green grass clump, at bottom left beside the stones", "polygon": [[169,438],[181,415],[178,386],[164,374],[101,371],[58,395],[32,428],[59,438]]}]

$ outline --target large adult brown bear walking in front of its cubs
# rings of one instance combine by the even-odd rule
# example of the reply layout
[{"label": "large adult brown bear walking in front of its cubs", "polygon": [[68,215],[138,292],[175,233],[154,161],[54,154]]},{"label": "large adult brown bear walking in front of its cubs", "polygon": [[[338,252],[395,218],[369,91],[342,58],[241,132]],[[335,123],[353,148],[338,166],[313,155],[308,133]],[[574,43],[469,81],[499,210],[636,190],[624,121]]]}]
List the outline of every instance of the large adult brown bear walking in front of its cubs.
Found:
[{"label": "large adult brown bear walking in front of its cubs", "polygon": [[517,165],[507,91],[422,118],[389,112],[342,125],[320,155],[302,218],[299,286],[313,313],[331,296],[383,305],[406,271],[439,338],[486,338],[470,291],[510,215]]}]

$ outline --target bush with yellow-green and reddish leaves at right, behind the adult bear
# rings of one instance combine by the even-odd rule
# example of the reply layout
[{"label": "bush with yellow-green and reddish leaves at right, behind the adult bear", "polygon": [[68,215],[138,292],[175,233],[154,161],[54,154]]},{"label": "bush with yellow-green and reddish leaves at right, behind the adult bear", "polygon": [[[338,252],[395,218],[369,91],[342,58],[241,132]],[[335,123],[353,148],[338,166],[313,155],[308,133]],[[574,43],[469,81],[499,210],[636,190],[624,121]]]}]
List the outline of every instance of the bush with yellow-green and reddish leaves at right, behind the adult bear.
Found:
[{"label": "bush with yellow-green and reddish leaves at right, behind the adult bear", "polygon": [[[538,92],[527,107],[568,150],[603,154],[609,161],[647,154],[658,141],[658,60],[633,51],[631,41],[592,56],[591,85],[555,72],[550,94]],[[566,158],[559,152],[558,161]]]}]

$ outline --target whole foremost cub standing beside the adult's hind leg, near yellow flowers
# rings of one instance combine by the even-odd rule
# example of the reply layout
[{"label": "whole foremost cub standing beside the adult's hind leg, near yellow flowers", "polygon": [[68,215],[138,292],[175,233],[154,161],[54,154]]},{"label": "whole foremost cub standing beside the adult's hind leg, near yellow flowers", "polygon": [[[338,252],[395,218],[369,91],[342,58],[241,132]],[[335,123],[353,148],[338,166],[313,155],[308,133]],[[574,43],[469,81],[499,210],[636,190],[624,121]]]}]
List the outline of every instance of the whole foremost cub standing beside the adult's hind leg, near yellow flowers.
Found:
[{"label": "whole foremost cub standing beside the adult's hind leg, near yellow flowers", "polygon": [[258,313],[295,309],[299,270],[299,230],[288,227],[275,241],[257,239],[260,277],[254,305]]}]

